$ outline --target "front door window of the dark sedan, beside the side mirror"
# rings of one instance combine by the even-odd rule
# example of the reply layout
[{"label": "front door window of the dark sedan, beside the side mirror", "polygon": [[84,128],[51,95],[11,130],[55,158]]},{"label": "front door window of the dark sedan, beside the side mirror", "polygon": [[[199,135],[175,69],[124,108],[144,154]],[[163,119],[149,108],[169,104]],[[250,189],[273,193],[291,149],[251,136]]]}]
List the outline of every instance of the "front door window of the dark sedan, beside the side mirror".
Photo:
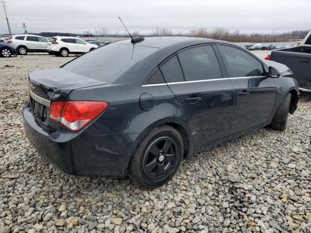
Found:
[{"label": "front door window of the dark sedan, beside the side mirror", "polygon": [[226,45],[219,45],[219,48],[227,61],[229,78],[264,75],[262,63],[247,52]]}]

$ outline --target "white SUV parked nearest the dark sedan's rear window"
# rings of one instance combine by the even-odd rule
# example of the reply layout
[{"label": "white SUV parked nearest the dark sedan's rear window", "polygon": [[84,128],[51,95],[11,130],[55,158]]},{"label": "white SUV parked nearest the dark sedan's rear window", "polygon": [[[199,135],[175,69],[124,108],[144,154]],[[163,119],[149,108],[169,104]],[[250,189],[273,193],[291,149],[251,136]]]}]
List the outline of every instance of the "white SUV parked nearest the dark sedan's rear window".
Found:
[{"label": "white SUV parked nearest the dark sedan's rear window", "polygon": [[98,47],[97,45],[88,44],[84,40],[71,36],[52,37],[48,44],[48,52],[62,57],[67,57],[70,53],[82,54]]}]

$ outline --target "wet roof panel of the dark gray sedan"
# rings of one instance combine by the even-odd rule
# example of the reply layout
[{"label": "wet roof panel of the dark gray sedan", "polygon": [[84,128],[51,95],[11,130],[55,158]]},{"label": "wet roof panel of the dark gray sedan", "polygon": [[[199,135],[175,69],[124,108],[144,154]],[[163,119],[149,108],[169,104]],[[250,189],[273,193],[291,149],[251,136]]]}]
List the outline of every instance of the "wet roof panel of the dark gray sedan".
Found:
[{"label": "wet roof panel of the dark gray sedan", "polygon": [[[153,37],[144,37],[144,40],[136,43],[135,45],[153,47],[153,48],[162,48],[169,45],[177,44],[203,44],[203,43],[216,43],[222,42],[219,40],[207,39],[207,38],[197,38],[190,36],[153,36]],[[115,42],[116,44],[132,44],[130,39],[121,40]]]}]

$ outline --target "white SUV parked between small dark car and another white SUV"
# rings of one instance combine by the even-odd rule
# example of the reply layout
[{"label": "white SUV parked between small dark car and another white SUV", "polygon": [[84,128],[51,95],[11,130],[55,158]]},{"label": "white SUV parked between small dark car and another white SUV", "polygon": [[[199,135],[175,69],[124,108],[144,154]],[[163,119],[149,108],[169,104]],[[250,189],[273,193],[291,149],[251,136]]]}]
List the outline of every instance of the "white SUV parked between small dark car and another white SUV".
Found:
[{"label": "white SUV parked between small dark car and another white SUV", "polygon": [[14,46],[20,55],[26,55],[27,52],[47,52],[48,48],[48,39],[39,35],[10,35],[7,43]]}]

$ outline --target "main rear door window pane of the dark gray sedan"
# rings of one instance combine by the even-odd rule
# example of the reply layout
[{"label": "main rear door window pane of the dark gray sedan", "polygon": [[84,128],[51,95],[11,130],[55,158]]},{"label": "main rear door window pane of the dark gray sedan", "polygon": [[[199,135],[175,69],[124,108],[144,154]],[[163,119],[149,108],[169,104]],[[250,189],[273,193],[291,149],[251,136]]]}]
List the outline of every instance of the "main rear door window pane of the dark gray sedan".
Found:
[{"label": "main rear door window pane of the dark gray sedan", "polygon": [[222,72],[211,45],[198,46],[178,53],[186,81],[221,79]]}]

